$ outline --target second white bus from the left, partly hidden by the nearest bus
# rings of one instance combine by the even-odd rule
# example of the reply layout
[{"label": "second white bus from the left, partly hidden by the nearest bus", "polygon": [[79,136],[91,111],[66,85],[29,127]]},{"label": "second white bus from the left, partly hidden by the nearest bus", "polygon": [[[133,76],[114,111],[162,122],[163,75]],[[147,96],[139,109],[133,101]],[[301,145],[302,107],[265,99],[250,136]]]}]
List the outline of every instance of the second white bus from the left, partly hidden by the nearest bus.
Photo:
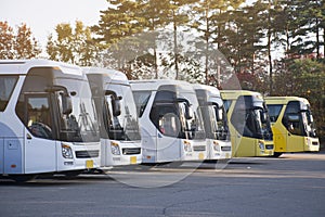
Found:
[{"label": "second white bus from the left, partly hidden by the nearest bus", "polygon": [[101,166],[140,164],[141,136],[127,76],[118,71],[84,68],[96,105],[101,131]]}]

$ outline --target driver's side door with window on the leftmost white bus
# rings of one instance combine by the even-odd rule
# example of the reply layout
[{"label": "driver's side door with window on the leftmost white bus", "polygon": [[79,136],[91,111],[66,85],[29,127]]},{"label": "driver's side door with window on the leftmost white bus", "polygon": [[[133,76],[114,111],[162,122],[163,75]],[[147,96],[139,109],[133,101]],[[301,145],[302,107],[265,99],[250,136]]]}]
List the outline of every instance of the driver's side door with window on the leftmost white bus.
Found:
[{"label": "driver's side door with window on the leftmost white bus", "polygon": [[48,93],[25,94],[25,173],[56,170],[53,111]]}]

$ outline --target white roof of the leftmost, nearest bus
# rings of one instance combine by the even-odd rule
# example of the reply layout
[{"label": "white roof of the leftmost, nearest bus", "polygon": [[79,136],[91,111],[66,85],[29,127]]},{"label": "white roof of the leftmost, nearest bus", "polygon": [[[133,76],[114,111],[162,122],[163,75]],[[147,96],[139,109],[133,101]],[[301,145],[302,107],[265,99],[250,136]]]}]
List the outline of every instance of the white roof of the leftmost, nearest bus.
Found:
[{"label": "white roof of the leftmost, nearest bus", "polygon": [[64,74],[83,76],[81,68],[56,61],[49,60],[0,60],[0,74],[5,75],[27,75],[32,67],[53,67],[60,68]]}]

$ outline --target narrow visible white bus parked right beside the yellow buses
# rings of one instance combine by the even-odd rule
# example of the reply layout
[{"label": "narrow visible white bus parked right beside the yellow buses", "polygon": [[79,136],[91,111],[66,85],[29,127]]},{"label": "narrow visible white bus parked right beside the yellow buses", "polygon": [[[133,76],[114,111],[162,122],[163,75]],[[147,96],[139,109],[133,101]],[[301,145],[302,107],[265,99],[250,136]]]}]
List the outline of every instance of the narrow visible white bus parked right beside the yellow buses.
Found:
[{"label": "narrow visible white bus parked right beside the yellow buses", "polygon": [[232,156],[232,143],[226,112],[220,91],[211,86],[194,85],[200,106],[208,145],[207,159],[225,159]]}]

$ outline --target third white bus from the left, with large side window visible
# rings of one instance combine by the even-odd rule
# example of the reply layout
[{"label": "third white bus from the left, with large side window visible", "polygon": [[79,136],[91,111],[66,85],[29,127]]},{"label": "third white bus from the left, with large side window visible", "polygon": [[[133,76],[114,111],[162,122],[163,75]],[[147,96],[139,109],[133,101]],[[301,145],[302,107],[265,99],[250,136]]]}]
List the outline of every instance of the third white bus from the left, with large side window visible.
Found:
[{"label": "third white bus from the left, with large side window visible", "polygon": [[203,161],[206,136],[195,91],[180,80],[131,80],[143,163]]}]

